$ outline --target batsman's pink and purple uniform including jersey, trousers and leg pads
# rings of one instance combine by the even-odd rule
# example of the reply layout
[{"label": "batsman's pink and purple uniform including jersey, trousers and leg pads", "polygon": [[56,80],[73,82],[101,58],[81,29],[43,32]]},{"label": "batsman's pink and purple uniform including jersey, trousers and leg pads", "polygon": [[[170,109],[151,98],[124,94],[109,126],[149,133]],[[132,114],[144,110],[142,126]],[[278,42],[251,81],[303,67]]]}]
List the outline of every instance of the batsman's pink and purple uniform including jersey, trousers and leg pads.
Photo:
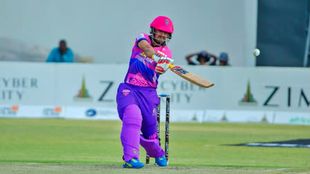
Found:
[{"label": "batsman's pink and purple uniform including jersey, trousers and leg pads", "polygon": [[[145,33],[136,37],[125,81],[118,87],[116,96],[118,115],[122,120],[120,140],[126,162],[131,158],[138,159],[139,143],[150,157],[163,157],[165,154],[156,133],[156,106],[159,104],[156,88],[159,75],[155,72],[156,62],[138,48],[141,40],[148,41],[152,46],[151,39]],[[167,46],[154,47],[154,50],[161,50],[167,57],[172,57]],[[140,131],[143,135],[140,135]]]}]

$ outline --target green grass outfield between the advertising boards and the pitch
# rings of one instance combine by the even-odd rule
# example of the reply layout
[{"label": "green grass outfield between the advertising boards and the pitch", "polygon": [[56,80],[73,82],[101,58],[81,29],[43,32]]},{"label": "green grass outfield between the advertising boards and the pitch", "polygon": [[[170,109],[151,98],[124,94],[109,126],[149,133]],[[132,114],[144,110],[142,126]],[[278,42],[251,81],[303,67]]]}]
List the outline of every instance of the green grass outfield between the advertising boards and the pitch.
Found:
[{"label": "green grass outfield between the advertising boards and the pitch", "polygon": [[[121,126],[121,122],[112,121],[0,119],[0,162],[121,167]],[[161,124],[162,144],[164,130],[164,124]],[[172,122],[169,166],[295,168],[308,171],[309,148],[224,144],[309,137],[309,126]],[[140,161],[145,162],[142,147]],[[154,159],[151,158],[150,164],[154,164]]]}]

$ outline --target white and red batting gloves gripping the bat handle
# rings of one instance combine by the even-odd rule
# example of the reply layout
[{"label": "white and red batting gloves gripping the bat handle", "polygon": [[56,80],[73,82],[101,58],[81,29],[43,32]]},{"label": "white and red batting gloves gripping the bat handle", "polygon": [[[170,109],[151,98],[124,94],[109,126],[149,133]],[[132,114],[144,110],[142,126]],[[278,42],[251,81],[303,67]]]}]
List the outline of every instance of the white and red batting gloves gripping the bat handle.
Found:
[{"label": "white and red batting gloves gripping the bat handle", "polygon": [[154,61],[156,61],[157,63],[155,72],[158,75],[162,75],[163,73],[165,73],[167,69],[169,68],[169,65],[173,64],[174,62],[173,59],[171,59],[170,57],[167,57],[167,55],[165,55],[165,53],[161,51],[157,51],[152,57]]}]

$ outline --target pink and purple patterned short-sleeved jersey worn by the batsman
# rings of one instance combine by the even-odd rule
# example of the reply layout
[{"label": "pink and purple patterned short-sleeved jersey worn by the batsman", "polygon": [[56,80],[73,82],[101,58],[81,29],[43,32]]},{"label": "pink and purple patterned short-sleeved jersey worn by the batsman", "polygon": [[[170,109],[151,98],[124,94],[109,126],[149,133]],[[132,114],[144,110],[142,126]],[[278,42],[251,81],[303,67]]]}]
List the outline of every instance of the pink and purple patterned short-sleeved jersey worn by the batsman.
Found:
[{"label": "pink and purple patterned short-sleeved jersey worn by the batsman", "polygon": [[[156,62],[152,58],[146,57],[143,50],[138,48],[137,43],[141,40],[148,41],[149,45],[152,46],[149,35],[145,33],[138,34],[134,47],[132,48],[125,83],[134,86],[157,88],[159,75],[155,72]],[[164,52],[167,57],[172,57],[171,51],[167,46],[156,46],[154,47],[154,50],[160,50],[161,52]]]}]

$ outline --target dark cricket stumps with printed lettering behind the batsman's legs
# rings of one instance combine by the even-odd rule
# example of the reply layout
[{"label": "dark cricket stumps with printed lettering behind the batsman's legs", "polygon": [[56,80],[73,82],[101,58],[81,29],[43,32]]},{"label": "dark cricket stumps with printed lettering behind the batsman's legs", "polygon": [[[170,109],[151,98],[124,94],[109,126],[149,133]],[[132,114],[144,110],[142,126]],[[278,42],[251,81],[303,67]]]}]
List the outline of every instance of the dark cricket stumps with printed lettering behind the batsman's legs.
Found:
[{"label": "dark cricket stumps with printed lettering behind the batsman's legs", "polygon": [[[166,98],[166,119],[165,119],[165,157],[167,159],[168,164],[168,157],[169,157],[169,124],[170,124],[170,95],[158,95],[159,97],[159,104],[157,106],[157,125],[156,131],[158,138],[160,137],[161,133],[161,97]],[[159,145],[161,145],[161,139],[159,138]],[[146,155],[145,164],[149,164],[149,155]]]}]

